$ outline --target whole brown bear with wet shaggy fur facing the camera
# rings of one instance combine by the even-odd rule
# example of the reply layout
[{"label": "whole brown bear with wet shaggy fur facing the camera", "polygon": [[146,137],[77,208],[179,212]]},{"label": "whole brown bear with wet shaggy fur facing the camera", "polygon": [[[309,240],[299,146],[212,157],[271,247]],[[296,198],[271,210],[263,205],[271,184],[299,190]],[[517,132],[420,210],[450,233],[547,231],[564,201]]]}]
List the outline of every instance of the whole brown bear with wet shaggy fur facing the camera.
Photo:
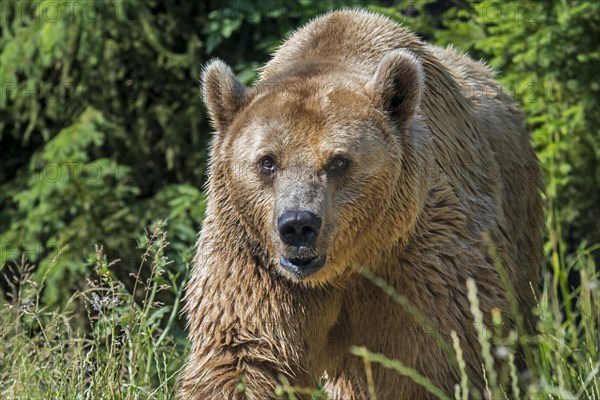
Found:
[{"label": "whole brown bear with wet shaggy fur facing the camera", "polygon": [[369,387],[353,345],[452,393],[456,362],[438,343],[451,331],[483,387],[466,281],[486,316],[509,315],[512,293],[527,320],[543,225],[538,161],[493,76],[358,10],[296,31],[254,88],[219,60],[206,66],[216,133],[187,287],[184,398],[272,399],[281,377],[322,379],[331,399],[431,396],[377,364]]}]

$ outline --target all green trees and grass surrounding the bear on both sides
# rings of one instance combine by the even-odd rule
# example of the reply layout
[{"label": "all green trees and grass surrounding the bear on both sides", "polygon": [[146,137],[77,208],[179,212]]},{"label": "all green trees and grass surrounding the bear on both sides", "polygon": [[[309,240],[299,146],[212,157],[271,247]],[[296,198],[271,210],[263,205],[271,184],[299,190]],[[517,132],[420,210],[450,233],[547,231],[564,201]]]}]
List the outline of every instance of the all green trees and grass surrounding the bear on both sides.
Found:
[{"label": "all green trees and grass surrounding the bear on both sides", "polygon": [[521,101],[548,229],[520,393],[600,398],[600,3],[564,0],[0,0],[0,397],[173,396],[204,212],[200,69],[220,57],[250,84],[343,6],[488,60]]}]

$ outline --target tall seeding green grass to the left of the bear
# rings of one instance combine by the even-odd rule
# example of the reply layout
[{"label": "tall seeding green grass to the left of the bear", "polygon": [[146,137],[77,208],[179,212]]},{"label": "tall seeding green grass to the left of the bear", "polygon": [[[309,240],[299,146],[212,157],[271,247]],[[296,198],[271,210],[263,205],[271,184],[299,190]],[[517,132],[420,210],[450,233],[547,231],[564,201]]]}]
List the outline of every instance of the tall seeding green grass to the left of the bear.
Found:
[{"label": "tall seeding green grass to the left of the bear", "polygon": [[[22,262],[6,277],[10,301],[0,309],[0,398],[174,398],[188,346],[171,332],[182,288],[177,277],[164,276],[166,246],[156,224],[134,277],[132,292],[141,289],[142,300],[114,278],[117,262],[107,262],[97,247],[97,279],[60,312],[41,306],[45,280],[32,281],[33,268]],[[175,293],[171,305],[156,300],[166,290]]]}]

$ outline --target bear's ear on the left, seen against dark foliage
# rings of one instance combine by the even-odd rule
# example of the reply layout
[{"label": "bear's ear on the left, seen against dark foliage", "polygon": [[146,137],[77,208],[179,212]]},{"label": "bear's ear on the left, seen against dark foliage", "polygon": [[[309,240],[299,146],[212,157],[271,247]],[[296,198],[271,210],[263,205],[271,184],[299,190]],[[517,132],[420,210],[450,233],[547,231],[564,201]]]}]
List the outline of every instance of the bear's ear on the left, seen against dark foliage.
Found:
[{"label": "bear's ear on the left, seen against dark foliage", "polygon": [[249,90],[227,64],[213,59],[202,71],[202,93],[213,128],[223,133],[246,104]]}]

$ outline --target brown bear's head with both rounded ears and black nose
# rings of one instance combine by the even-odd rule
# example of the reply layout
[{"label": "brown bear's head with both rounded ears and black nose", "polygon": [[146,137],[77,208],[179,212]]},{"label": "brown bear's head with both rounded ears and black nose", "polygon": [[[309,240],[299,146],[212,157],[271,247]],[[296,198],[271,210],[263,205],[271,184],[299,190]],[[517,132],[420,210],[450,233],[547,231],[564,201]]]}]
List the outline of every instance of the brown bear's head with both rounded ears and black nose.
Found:
[{"label": "brown bear's head with both rounded ears and black nose", "polygon": [[411,234],[428,135],[424,74],[410,52],[365,74],[300,60],[252,89],[213,60],[202,84],[216,130],[210,207],[266,267],[324,284],[381,262]]}]

